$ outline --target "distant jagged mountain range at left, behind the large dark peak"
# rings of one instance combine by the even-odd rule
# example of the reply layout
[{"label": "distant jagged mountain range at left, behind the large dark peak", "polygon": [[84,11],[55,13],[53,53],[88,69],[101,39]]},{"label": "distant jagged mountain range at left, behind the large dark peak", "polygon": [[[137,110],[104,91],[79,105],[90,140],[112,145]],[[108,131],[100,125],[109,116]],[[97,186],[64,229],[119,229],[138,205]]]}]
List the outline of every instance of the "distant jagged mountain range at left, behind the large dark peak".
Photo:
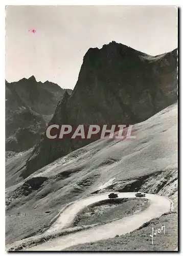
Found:
[{"label": "distant jagged mountain range at left, behind the large dark peak", "polygon": [[37,82],[34,76],[6,81],[6,151],[25,151],[39,141],[64,91],[55,83]]}]

